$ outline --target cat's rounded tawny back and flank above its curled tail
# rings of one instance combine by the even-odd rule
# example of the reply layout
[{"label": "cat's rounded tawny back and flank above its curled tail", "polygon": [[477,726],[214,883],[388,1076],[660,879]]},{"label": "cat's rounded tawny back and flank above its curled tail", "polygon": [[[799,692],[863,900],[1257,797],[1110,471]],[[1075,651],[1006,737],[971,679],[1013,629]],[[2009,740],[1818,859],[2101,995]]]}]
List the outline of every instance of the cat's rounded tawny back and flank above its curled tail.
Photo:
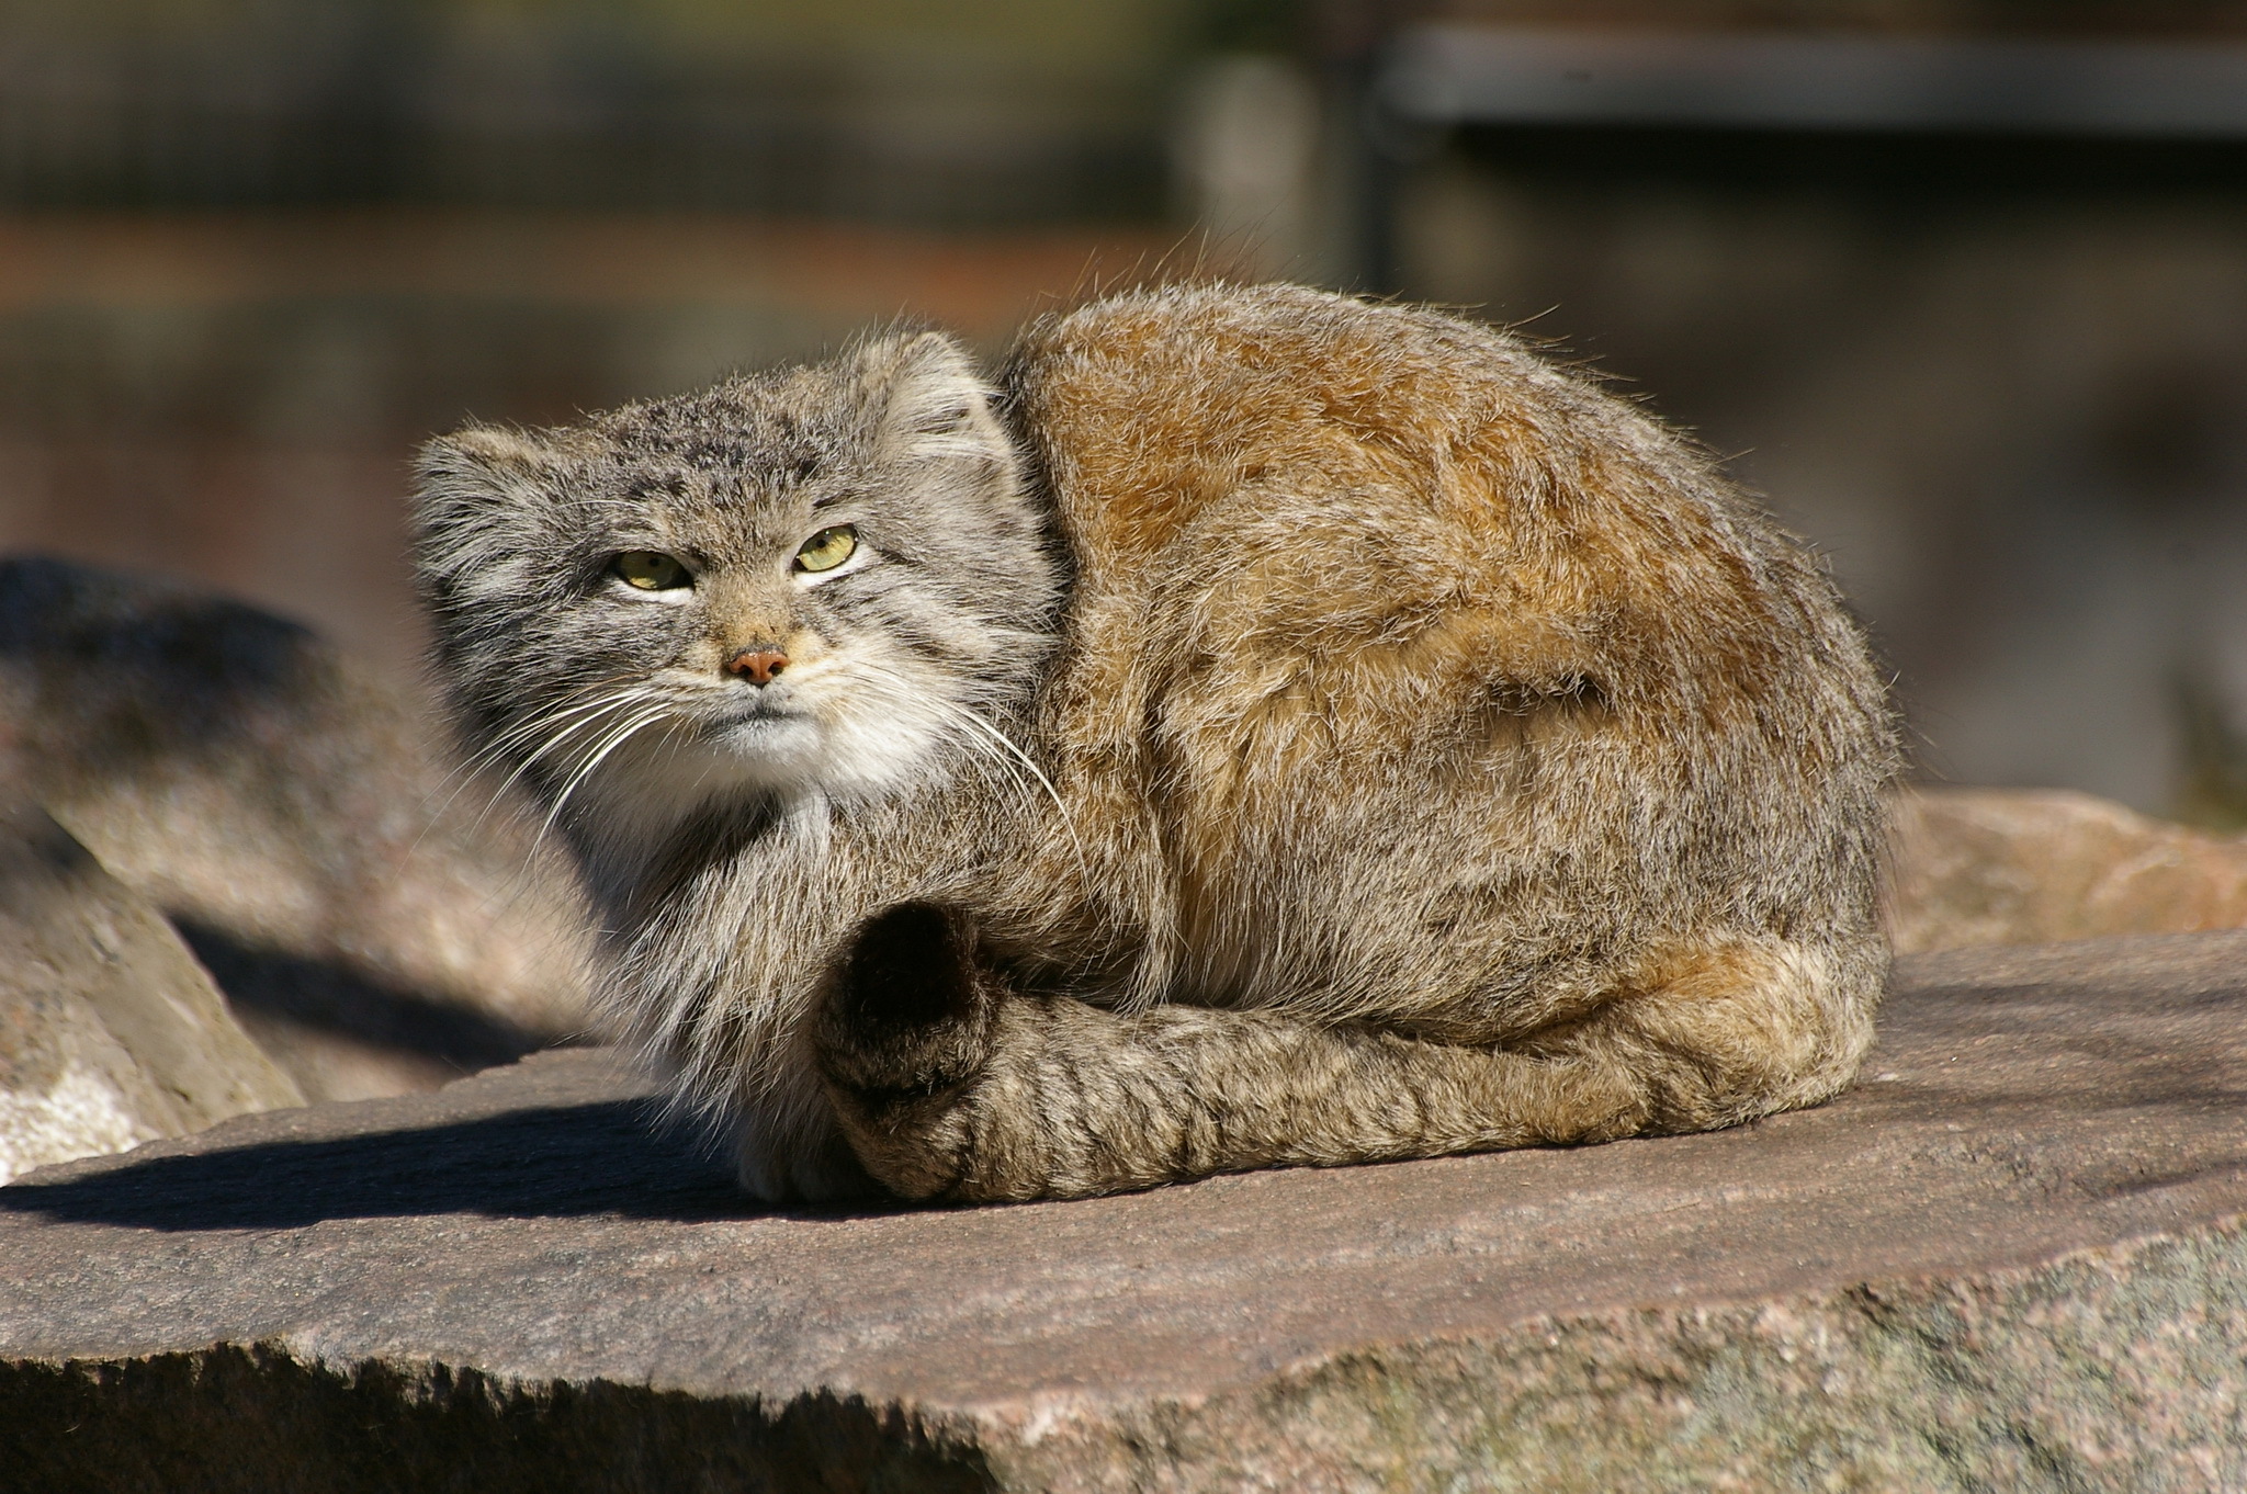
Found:
[{"label": "cat's rounded tawny back and flank above its curled tail", "polygon": [[1474,1004],[1663,930],[1876,941],[1863,638],[1631,404],[1294,285],[1052,317],[1004,393],[1074,571],[1040,741],[1189,986]]}]

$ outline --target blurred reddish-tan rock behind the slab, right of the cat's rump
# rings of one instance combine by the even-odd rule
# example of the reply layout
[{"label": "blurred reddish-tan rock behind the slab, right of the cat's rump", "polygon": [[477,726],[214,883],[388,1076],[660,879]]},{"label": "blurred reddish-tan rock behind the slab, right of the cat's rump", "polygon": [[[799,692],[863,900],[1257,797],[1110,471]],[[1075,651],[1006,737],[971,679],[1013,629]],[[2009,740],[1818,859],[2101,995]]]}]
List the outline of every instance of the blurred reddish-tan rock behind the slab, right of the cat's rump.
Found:
[{"label": "blurred reddish-tan rock behind the slab, right of the cat's rump", "polygon": [[2063,789],[1919,789],[1890,908],[1899,953],[2247,928],[2247,840]]}]

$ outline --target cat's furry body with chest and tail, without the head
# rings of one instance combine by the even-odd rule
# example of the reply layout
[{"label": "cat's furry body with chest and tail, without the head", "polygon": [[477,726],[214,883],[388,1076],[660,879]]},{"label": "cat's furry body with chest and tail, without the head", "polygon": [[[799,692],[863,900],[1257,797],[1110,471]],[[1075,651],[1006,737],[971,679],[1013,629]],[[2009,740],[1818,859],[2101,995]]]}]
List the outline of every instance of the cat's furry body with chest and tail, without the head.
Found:
[{"label": "cat's furry body with chest and tail, without the head", "polygon": [[[1703,458],[1499,332],[1285,285],[1047,319],[1000,393],[1067,591],[993,719],[1052,798],[962,766],[613,939],[753,1188],[1081,1195],[1849,1081],[1890,714]],[[697,939],[692,1011],[625,964]]]}]

